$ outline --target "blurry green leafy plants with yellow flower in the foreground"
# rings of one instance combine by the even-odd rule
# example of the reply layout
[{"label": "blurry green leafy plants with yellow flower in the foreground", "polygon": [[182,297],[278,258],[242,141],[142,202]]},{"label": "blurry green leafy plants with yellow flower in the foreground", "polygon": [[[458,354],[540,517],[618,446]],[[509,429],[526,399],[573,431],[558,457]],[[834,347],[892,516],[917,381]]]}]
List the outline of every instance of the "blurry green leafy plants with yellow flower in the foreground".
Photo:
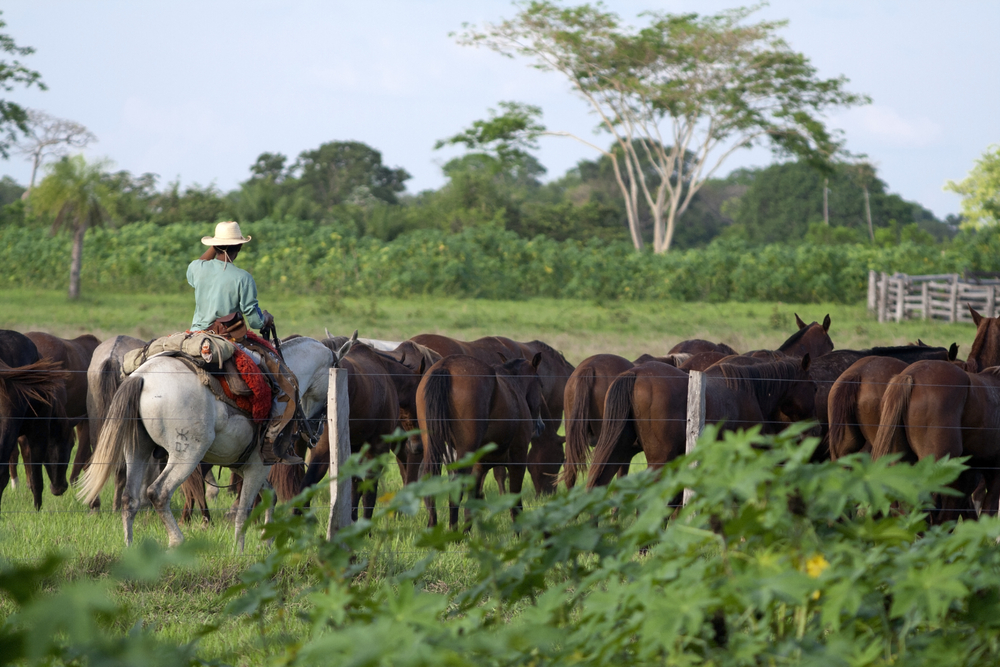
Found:
[{"label": "blurry green leafy plants with yellow flower in the foreground", "polygon": [[[265,528],[273,552],[230,590],[227,613],[259,624],[279,665],[996,664],[1000,523],[929,528],[925,520],[931,494],[946,492],[961,462],[892,465],[858,455],[817,465],[809,463],[816,442],[801,434],[793,427],[716,441],[709,429],[659,476],[557,494],[522,514],[511,539],[498,535],[509,530],[512,497],[487,499],[474,504],[469,533],[423,529],[426,557],[384,575],[376,571],[396,520],[418,520],[423,495],[467,491],[467,478],[404,487],[382,499],[373,521],[331,542],[316,515],[281,508]],[[355,460],[345,472],[382,463]],[[678,509],[684,488],[694,499]],[[455,557],[457,543],[470,583],[442,591],[429,573]],[[164,556],[145,558],[155,565]],[[283,571],[305,564],[305,588],[279,584]],[[7,581],[0,585],[13,591]],[[116,637],[94,622],[89,639],[64,624],[58,641],[42,632],[38,645],[48,648],[28,653],[28,619],[39,618],[32,610],[73,591],[11,593],[22,611],[2,637],[22,647],[17,655],[91,664],[111,655],[113,663],[154,645],[141,630]],[[291,614],[302,632],[263,623]],[[197,660],[191,646],[170,651],[159,659]]]}]

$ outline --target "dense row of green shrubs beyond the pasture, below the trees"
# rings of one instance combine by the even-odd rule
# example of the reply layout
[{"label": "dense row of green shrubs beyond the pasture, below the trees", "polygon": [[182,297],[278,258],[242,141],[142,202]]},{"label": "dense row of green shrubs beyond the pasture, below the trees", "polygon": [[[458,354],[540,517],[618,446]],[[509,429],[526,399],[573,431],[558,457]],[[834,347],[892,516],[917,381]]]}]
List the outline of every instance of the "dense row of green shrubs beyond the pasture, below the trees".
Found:
[{"label": "dense row of green shrubs beyond the pasture, below the trees", "polygon": [[[852,302],[869,269],[910,274],[1000,269],[1000,234],[966,234],[947,245],[774,244],[718,240],[665,256],[626,243],[525,239],[479,227],[420,230],[389,243],[311,222],[245,225],[255,241],[240,256],[262,291],[342,296],[449,295],[471,298]],[[203,224],[133,224],[93,229],[84,245],[84,288],[186,289],[188,262],[201,254]],[[61,288],[71,238],[45,230],[0,229],[0,285]]]}]

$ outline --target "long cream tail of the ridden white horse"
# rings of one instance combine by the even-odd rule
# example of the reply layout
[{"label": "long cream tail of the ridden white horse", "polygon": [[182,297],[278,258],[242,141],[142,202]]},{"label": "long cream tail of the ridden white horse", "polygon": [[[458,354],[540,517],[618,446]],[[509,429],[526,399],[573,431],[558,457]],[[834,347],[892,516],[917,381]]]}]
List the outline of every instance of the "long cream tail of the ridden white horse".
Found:
[{"label": "long cream tail of the ridden white horse", "polygon": [[88,505],[101,494],[112,471],[118,470],[125,463],[126,444],[135,443],[140,437],[139,429],[145,429],[139,415],[142,385],[142,376],[128,377],[115,392],[108,407],[97,447],[76,492],[77,498]]}]

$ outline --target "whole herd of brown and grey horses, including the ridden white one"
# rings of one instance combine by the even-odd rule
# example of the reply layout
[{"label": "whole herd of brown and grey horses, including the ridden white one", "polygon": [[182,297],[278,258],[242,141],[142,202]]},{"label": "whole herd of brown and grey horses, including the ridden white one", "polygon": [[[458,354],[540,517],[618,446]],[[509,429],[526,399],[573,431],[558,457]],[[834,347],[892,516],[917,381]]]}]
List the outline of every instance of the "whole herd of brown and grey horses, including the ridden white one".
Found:
[{"label": "whole herd of brown and grey horses, including the ridden white one", "polygon": [[[955,344],[921,341],[835,350],[829,316],[806,324],[796,315],[798,329],[775,350],[740,354],[723,343],[688,340],[662,356],[598,354],[575,367],[537,340],[421,334],[378,349],[329,335],[290,336],[281,350],[299,381],[299,451],[316,444],[304,466],[267,466],[259,451],[248,455],[249,415],[219,401],[178,359],[153,357],[124,377],[125,353],[145,341],[0,331],[0,461],[9,462],[0,465],[0,499],[19,457],[36,509],[43,469],[54,495],[76,483],[94,509],[114,477],[126,543],[136,512],[149,502],[174,545],[183,539],[170,508],[174,491],[185,494],[185,519],[200,509],[208,521],[205,480],[213,480],[213,466],[229,466],[241,487],[234,510],[242,548],[241,526],[262,487],[286,500],[328,470],[322,424],[333,366],[348,371],[351,450],[393,453],[404,483],[440,474],[445,464],[492,445],[465,469],[475,497],[491,470],[502,490],[518,495],[525,474],[541,494],[559,483],[573,487],[581,475],[592,488],[627,474],[640,453],[653,469],[683,454],[689,377],[700,371],[705,421],[720,431],[760,426],[774,433],[812,420],[820,437],[815,460],[861,451],[873,458],[898,454],[904,462],[970,457],[953,484],[959,495],[942,496],[931,520],[975,518],[980,510],[995,515],[1000,321],[972,315],[977,332],[964,361]],[[411,435],[390,437],[400,430]],[[375,480],[356,483],[355,516],[371,517],[377,497]],[[436,525],[434,499],[426,503],[429,524]],[[512,507],[512,516],[521,509]],[[449,523],[459,523],[454,499]]]}]

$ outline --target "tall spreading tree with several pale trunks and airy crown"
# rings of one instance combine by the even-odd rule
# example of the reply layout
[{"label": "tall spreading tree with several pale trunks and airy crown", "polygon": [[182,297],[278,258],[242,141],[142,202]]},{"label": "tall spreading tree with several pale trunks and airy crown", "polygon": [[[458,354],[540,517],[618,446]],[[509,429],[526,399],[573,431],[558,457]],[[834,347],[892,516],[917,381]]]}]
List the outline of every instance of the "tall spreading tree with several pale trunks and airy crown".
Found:
[{"label": "tall spreading tree with several pale trunks and airy crown", "polygon": [[[818,78],[809,60],[777,36],[784,21],[745,24],[752,11],[648,13],[649,23],[632,29],[601,5],[563,8],[541,0],[513,19],[467,27],[459,41],[527,56],[569,80],[619,150],[557,134],[613,160],[633,243],[643,245],[641,196],[653,216],[654,250],[666,252],[677,219],[734,151],[767,144],[823,164],[838,144],[821,115],[867,102],[844,89],[844,77]],[[655,183],[644,161],[654,166]]]}]

